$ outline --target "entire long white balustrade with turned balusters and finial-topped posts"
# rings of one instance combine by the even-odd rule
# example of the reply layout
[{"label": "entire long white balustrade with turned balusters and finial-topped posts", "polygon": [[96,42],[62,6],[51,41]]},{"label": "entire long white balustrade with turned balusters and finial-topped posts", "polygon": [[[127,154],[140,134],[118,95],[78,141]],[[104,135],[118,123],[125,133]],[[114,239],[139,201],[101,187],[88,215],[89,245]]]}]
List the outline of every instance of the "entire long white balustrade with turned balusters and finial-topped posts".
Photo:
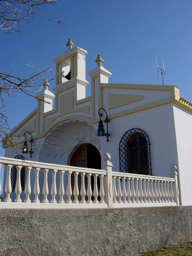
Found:
[{"label": "entire long white balustrade with turned balusters and finial-topped posts", "polygon": [[[6,207],[5,204],[14,208],[17,205],[23,208],[179,205],[175,165],[172,166],[173,178],[165,178],[112,172],[109,154],[105,154],[103,159],[103,169],[97,170],[0,157],[0,166],[5,165],[7,169],[6,197],[0,207]],[[13,166],[17,171],[15,191],[11,187]],[[20,181],[22,168],[25,168],[26,173],[23,192]],[[42,175],[44,178],[40,182],[39,177]],[[16,197],[14,202],[12,195]],[[32,198],[34,204],[31,203]]]}]

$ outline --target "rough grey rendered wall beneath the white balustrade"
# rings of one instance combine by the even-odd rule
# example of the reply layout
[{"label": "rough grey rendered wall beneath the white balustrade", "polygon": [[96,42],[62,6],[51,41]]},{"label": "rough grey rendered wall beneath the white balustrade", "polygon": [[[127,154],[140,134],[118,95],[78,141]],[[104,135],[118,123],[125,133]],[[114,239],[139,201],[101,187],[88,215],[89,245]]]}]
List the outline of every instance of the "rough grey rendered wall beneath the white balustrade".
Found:
[{"label": "rough grey rendered wall beneath the white balustrade", "polygon": [[192,240],[192,206],[0,209],[0,255],[131,255]]}]

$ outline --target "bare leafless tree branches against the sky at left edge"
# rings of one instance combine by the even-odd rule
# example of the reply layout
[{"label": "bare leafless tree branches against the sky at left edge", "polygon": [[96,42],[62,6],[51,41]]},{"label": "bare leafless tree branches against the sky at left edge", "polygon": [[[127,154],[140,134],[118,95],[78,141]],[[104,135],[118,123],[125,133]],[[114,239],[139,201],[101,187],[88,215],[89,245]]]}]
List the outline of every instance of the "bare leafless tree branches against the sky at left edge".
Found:
[{"label": "bare leafless tree branches against the sky at left edge", "polygon": [[[29,24],[30,18],[35,19],[36,16],[63,25],[62,20],[57,20],[44,9],[45,5],[56,2],[57,0],[0,0],[0,30],[9,34],[21,33],[22,28]],[[6,74],[0,70],[0,142],[8,144],[16,152],[21,145],[21,139],[13,134],[9,126],[5,98],[15,97],[16,93],[24,93],[41,100],[38,98],[38,92],[44,85],[45,79],[47,77],[50,78],[48,81],[55,79],[50,67],[34,65],[24,52],[23,54],[28,61],[27,65],[32,69],[29,77],[17,76],[12,71]]]}]

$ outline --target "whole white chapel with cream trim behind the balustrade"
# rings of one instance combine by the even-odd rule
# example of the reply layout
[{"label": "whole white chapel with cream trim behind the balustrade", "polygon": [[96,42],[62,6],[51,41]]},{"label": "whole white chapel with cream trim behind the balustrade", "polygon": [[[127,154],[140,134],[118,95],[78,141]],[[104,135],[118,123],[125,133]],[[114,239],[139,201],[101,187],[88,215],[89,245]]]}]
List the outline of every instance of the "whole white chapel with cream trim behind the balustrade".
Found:
[{"label": "whole white chapel with cream trim behind the balustrade", "polygon": [[[33,153],[5,145],[5,155],[100,169],[107,152],[114,171],[161,177],[171,177],[176,165],[180,204],[192,205],[192,103],[175,86],[109,83],[112,74],[100,54],[88,73],[91,96],[86,97],[88,52],[71,39],[67,47],[54,59],[54,93],[45,80],[37,108],[14,129],[21,138],[32,134]],[[13,176],[11,182],[14,186]],[[4,190],[5,183],[6,173]]]}]

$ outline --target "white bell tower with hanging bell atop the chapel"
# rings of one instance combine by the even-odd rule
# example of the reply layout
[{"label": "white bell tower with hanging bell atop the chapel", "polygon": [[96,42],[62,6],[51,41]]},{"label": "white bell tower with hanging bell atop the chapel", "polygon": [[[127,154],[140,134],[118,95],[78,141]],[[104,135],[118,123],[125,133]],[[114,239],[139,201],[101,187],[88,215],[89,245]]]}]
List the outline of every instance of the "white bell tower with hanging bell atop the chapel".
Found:
[{"label": "white bell tower with hanging bell atop the chapel", "polygon": [[69,38],[68,50],[55,58],[56,63],[56,87],[55,92],[67,86],[76,87],[76,99],[86,97],[86,55],[88,52],[79,47],[73,48],[74,44]]}]

